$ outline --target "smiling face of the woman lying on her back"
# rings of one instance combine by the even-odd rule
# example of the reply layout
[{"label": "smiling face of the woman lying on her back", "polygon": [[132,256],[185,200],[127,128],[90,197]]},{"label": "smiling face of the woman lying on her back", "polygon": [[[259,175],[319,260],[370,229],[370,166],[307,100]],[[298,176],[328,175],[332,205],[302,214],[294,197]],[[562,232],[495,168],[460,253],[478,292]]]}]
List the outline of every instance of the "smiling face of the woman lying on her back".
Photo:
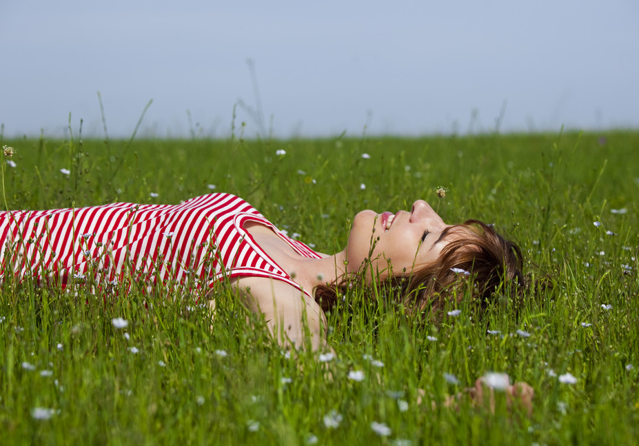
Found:
[{"label": "smiling face of the woman lying on her back", "polygon": [[383,277],[387,276],[385,270],[389,263],[392,263],[394,274],[401,274],[404,268],[411,271],[414,266],[432,263],[448,243],[438,241],[447,227],[449,225],[423,200],[413,203],[410,212],[359,212],[348,237],[347,270],[361,269],[371,251],[371,236],[375,245],[370,258],[374,271],[379,271]]}]

